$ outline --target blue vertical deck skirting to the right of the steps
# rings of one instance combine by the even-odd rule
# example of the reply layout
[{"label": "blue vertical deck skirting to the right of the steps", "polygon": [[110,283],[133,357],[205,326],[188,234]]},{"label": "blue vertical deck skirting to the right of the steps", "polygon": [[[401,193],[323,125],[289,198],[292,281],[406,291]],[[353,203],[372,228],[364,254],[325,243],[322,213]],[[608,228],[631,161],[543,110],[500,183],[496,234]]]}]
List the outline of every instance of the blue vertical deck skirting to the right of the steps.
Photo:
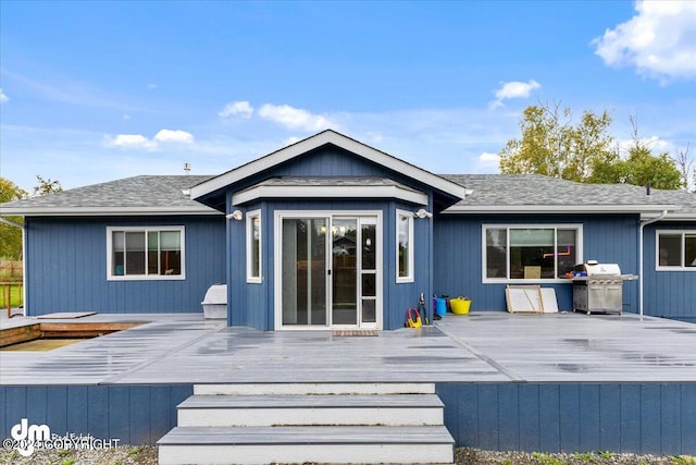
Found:
[{"label": "blue vertical deck skirting to the right of the steps", "polygon": [[696,453],[694,383],[437,384],[457,446]]}]

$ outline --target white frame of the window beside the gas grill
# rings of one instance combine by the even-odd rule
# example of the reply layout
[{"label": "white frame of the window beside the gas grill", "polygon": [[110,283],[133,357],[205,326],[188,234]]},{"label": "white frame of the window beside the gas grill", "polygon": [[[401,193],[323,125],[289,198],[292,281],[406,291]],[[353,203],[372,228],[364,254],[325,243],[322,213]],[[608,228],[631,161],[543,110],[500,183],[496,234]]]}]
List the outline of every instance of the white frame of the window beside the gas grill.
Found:
[{"label": "white frame of the window beside the gas grill", "polygon": [[[488,256],[487,256],[487,231],[488,230],[505,230],[506,243],[505,243],[505,276],[499,278],[488,277]],[[554,274],[555,278],[510,278],[511,274],[511,258],[510,258],[510,231],[521,230],[552,230],[554,231],[554,249],[559,250],[558,231],[559,230],[572,230],[575,231],[575,264],[582,264],[583,259],[583,224],[582,223],[521,223],[521,224],[482,224],[481,227],[481,279],[484,284],[531,284],[531,283],[567,283],[567,279],[560,277],[559,270],[559,255],[555,256],[554,260]],[[573,264],[573,265],[575,265]]]}]

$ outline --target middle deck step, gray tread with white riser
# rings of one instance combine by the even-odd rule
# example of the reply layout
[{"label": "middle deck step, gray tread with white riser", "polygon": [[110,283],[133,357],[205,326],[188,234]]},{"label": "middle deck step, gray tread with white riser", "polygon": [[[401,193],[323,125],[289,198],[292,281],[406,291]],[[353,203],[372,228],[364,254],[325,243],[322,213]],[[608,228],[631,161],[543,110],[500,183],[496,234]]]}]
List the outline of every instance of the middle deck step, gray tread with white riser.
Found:
[{"label": "middle deck step, gray tread with white riser", "polygon": [[178,426],[442,425],[435,394],[192,395]]}]

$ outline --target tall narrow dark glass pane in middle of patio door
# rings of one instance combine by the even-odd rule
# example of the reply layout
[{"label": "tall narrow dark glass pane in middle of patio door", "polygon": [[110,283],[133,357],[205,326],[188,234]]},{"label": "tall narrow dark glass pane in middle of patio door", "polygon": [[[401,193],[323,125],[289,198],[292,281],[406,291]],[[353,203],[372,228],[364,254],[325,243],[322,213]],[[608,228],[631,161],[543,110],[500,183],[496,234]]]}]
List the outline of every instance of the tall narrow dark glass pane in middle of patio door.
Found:
[{"label": "tall narrow dark glass pane in middle of patio door", "polygon": [[358,323],[358,220],[335,219],[332,225],[333,323]]}]

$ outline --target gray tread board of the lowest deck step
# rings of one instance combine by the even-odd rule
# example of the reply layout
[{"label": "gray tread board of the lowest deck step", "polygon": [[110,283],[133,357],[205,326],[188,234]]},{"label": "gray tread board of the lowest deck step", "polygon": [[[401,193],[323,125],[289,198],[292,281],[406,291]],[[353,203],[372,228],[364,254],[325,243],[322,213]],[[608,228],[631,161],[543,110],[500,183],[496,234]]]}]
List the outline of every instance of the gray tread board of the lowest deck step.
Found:
[{"label": "gray tread board of the lowest deck step", "polygon": [[445,426],[176,427],[158,445],[453,444]]}]

